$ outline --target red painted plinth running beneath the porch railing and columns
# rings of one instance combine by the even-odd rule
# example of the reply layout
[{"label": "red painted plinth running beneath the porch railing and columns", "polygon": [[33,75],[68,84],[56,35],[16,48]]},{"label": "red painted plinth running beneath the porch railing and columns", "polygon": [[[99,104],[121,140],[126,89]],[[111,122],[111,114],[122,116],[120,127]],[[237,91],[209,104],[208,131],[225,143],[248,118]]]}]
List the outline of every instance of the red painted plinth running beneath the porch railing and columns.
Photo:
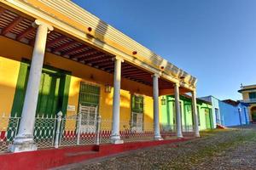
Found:
[{"label": "red painted plinth running beneath the porch railing and columns", "polygon": [[0,155],[1,169],[46,169],[59,167],[96,157],[108,156],[127,150],[137,150],[159,144],[171,144],[188,139],[172,139],[160,141],[133,142],[125,144],[102,144],[63,147],[60,149],[36,150],[22,153],[7,153]]}]

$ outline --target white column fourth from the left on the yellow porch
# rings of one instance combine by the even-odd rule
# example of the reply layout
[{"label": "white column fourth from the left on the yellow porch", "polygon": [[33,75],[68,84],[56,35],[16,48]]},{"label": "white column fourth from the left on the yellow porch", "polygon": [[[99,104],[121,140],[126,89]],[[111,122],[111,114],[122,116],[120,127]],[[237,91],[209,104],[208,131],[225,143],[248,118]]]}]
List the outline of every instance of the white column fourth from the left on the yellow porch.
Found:
[{"label": "white column fourth from the left on the yellow porch", "polygon": [[176,83],[174,85],[174,94],[175,94],[175,110],[176,110],[176,131],[177,138],[183,138],[182,133],[182,120],[179,106],[179,84]]}]

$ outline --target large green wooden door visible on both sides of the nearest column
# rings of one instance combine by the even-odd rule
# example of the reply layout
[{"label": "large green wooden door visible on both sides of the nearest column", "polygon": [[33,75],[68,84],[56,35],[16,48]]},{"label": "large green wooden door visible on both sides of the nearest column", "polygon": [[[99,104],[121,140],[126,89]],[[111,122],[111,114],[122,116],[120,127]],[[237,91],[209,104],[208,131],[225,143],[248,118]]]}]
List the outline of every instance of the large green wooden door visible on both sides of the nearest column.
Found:
[{"label": "large green wooden door visible on both sides of the nearest column", "polygon": [[[62,111],[63,115],[67,112],[67,99],[70,84],[70,76],[63,71],[52,68],[43,68],[41,75],[40,88],[38,93],[38,105],[36,111],[35,122],[35,138],[46,138],[53,134],[55,129],[55,115],[58,111]],[[25,94],[26,85],[29,76],[29,64],[21,63],[20,72],[15,90],[14,105],[12,108],[12,116],[21,116]],[[40,118],[41,117],[41,118]],[[46,117],[53,117],[51,120]],[[9,127],[12,127],[9,122]],[[9,132],[11,134],[11,132]],[[41,137],[38,137],[38,135]],[[42,137],[42,134],[44,136]]]}]

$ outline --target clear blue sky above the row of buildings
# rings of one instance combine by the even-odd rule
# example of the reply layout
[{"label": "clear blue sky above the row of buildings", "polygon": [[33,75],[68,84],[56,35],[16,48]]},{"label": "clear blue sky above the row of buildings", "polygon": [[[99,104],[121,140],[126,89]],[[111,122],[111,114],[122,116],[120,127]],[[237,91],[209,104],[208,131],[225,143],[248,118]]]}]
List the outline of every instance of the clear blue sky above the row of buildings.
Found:
[{"label": "clear blue sky above the row of buildings", "polygon": [[256,0],[74,0],[198,78],[198,96],[256,83]]}]

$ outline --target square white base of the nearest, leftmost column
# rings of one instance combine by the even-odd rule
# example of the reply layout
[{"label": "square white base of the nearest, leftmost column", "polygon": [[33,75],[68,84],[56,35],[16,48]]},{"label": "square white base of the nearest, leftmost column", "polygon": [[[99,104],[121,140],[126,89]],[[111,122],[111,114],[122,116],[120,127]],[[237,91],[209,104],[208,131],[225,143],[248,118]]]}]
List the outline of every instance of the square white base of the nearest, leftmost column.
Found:
[{"label": "square white base of the nearest, leftmost column", "polygon": [[9,145],[9,151],[14,153],[33,150],[38,150],[38,146],[32,138],[16,136],[14,144]]}]

